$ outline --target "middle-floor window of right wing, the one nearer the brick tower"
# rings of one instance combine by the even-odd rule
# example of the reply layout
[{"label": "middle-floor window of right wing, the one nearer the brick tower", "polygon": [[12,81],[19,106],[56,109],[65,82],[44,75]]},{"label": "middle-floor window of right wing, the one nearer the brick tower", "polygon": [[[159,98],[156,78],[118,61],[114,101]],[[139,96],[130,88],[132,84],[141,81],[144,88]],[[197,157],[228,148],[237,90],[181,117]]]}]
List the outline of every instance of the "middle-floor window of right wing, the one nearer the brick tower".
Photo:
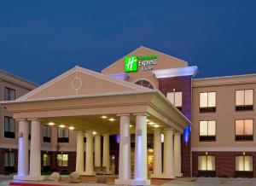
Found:
[{"label": "middle-floor window of right wing, the one nearer the brick tower", "polygon": [[216,140],[216,121],[200,121],[199,122],[199,141],[209,142]]}]

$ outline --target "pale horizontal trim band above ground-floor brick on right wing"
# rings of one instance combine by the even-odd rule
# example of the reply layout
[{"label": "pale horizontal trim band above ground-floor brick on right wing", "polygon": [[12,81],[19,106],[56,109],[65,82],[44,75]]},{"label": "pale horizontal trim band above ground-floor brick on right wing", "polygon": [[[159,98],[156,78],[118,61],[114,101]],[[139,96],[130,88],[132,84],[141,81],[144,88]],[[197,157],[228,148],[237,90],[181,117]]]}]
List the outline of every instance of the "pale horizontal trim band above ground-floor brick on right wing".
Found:
[{"label": "pale horizontal trim band above ground-floor brick on right wing", "polygon": [[256,152],[256,147],[191,148],[191,152]]}]

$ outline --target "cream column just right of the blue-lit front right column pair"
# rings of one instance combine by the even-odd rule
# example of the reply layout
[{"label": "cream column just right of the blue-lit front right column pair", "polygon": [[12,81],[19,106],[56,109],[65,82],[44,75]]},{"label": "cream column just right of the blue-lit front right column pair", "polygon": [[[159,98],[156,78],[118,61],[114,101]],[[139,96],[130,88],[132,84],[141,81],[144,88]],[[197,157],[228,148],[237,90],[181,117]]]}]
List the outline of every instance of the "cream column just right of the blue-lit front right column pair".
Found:
[{"label": "cream column just right of the blue-lit front right column pair", "polygon": [[162,174],[162,144],[160,128],[154,129],[154,167],[151,177],[160,178]]}]

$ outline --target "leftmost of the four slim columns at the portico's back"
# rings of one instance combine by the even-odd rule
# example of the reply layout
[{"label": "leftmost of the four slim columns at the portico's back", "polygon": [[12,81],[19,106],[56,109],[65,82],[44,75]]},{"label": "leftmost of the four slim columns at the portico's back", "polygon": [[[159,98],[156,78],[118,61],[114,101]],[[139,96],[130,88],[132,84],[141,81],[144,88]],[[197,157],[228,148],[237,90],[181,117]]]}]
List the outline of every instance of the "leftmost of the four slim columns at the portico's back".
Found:
[{"label": "leftmost of the four slim columns at the portico's back", "polygon": [[84,175],[84,131],[77,131],[76,171]]}]

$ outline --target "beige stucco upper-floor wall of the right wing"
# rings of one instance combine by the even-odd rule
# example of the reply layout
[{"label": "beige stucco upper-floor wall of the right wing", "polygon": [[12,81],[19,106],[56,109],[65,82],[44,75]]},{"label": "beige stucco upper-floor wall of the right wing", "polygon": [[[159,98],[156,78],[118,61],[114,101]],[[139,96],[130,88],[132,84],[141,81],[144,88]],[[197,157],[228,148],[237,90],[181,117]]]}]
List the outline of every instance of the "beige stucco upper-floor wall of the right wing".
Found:
[{"label": "beige stucco upper-floor wall of the right wing", "polygon": [[[243,80],[244,78],[234,78],[234,80]],[[251,77],[251,79],[253,79]],[[254,78],[256,79],[256,78]],[[254,101],[256,100],[256,84],[244,83],[237,84],[233,81],[232,84],[226,84],[227,79],[208,79],[201,82],[194,81],[194,87],[192,90],[192,136],[191,147],[195,151],[199,148],[224,148],[225,150],[231,150],[232,148],[255,148],[256,147],[256,111],[255,104],[253,111],[235,111],[235,94],[236,90],[253,89]],[[230,80],[230,78],[228,79]],[[232,82],[232,81],[230,81]],[[206,83],[206,84],[205,84]],[[211,84],[211,86],[206,86]],[[215,85],[214,85],[215,84]],[[219,85],[221,84],[221,85]],[[216,91],[217,98],[217,112],[216,113],[199,113],[199,96],[200,92]],[[216,120],[216,142],[199,142],[199,121],[200,120]],[[253,141],[236,142],[235,141],[235,119],[254,119],[253,122]],[[223,150],[224,150],[223,149]]]}]

